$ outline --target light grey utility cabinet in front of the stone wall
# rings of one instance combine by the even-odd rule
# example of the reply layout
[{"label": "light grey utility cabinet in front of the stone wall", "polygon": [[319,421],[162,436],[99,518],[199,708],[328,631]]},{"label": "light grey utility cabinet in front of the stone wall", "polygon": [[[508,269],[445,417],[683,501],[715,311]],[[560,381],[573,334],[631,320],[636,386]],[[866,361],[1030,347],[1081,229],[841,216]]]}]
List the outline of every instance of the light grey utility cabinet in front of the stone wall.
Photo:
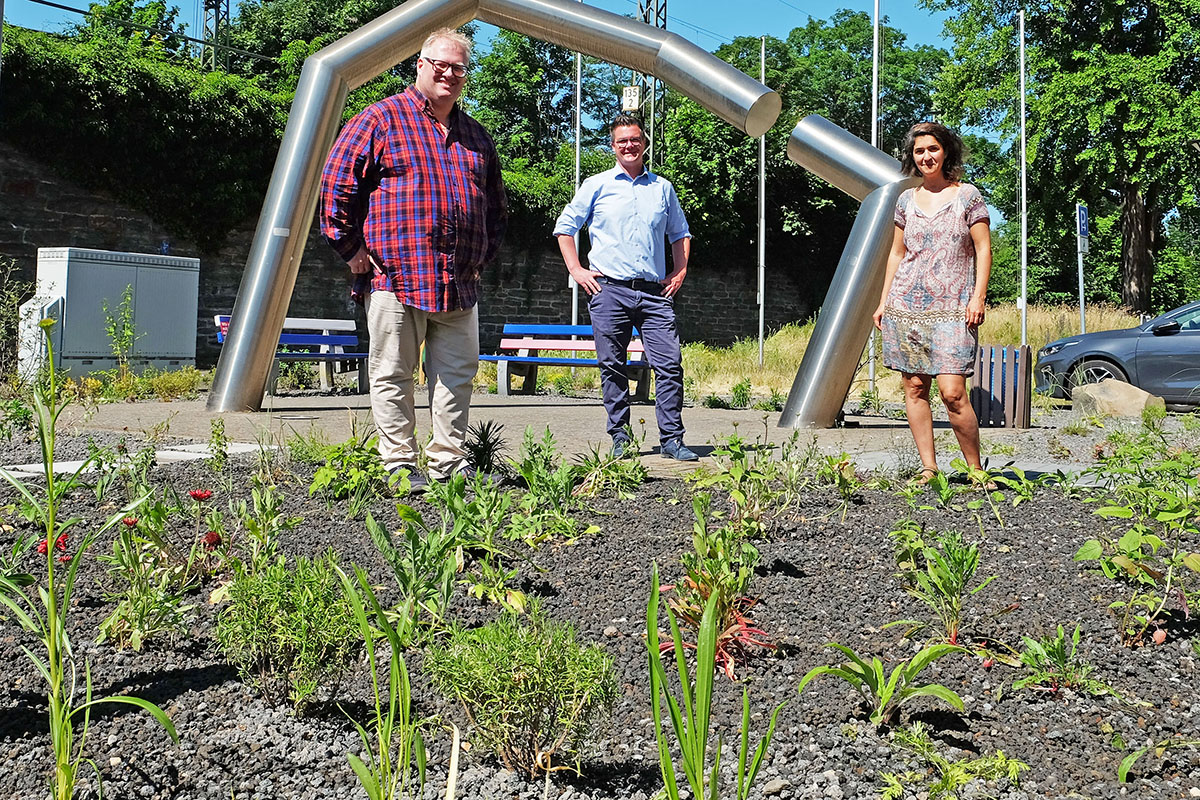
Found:
[{"label": "light grey utility cabinet in front of the stone wall", "polygon": [[[37,289],[22,306],[22,371],[44,359],[37,323],[52,329],[58,363],[74,374],[116,366],[104,331],[104,306],[116,317],[126,287],[133,287],[131,367],[196,365],[196,314],[200,260],[82,247],[40,247]],[[28,373],[26,373],[28,374]]]}]

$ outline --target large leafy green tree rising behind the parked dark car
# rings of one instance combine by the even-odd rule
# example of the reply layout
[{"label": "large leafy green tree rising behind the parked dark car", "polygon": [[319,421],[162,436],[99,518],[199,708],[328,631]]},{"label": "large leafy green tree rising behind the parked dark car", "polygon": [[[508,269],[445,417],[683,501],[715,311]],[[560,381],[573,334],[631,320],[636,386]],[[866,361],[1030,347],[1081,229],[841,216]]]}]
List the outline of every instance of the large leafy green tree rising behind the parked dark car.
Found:
[{"label": "large leafy green tree rising behind the parked dark car", "polygon": [[[1020,4],[923,2],[952,13],[953,61],[937,106],[952,124],[1004,143],[990,179],[1006,188],[989,199],[1013,217]],[[1031,261],[1038,253],[1050,284],[1070,283],[1073,210],[1084,200],[1097,229],[1112,231],[1116,219],[1121,301],[1148,311],[1164,217],[1194,196],[1200,174],[1189,146],[1200,130],[1200,0],[1054,0],[1027,14],[1026,41]],[[1106,252],[1088,258],[1090,272],[1116,273]]]}]

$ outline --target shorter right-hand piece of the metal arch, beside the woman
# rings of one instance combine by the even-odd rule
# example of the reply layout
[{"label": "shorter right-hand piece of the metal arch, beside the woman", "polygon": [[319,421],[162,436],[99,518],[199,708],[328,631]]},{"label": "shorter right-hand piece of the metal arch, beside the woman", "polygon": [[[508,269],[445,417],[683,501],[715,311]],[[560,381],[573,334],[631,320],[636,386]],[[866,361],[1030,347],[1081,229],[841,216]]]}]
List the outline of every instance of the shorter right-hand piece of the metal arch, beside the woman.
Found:
[{"label": "shorter right-hand piece of the metal arch, beside the woman", "polygon": [[899,161],[817,114],[797,122],[787,157],[863,203],[779,419],[780,427],[832,428],[883,290],[896,200],[920,179],[906,176]]}]

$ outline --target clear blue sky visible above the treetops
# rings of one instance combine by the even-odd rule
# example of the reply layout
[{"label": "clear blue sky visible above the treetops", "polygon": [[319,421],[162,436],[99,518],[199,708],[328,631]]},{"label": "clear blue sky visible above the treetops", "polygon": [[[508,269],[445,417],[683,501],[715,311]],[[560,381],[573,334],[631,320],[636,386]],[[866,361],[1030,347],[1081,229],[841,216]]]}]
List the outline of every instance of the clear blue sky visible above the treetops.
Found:
[{"label": "clear blue sky visible above the treetops", "polygon": [[[86,0],[55,0],[59,5],[86,8]],[[636,0],[587,0],[589,5],[620,14],[637,13]],[[236,0],[234,0],[236,2]],[[203,5],[199,0],[176,4],[180,20],[187,24],[190,36],[199,38]],[[941,44],[944,14],[931,14],[916,2],[881,0],[881,12],[908,37],[908,44]],[[782,38],[793,28],[810,18],[828,19],[839,8],[852,8],[868,14],[872,0],[840,0],[833,4],[815,0],[667,0],[667,28],[695,42],[706,50],[714,50],[734,36],[769,34]],[[62,30],[82,19],[79,14],[38,5],[32,0],[4,0],[4,16],[8,23],[41,30]],[[485,31],[486,35],[486,31]]]}]

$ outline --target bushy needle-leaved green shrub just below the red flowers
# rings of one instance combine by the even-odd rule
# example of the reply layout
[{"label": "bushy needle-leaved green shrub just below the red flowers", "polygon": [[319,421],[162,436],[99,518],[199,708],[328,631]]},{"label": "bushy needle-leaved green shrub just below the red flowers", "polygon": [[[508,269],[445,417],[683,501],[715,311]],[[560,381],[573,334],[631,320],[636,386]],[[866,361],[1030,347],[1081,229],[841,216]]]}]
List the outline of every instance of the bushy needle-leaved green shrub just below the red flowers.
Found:
[{"label": "bushy needle-leaved green shrub just below the red flowers", "polygon": [[234,570],[216,639],[242,680],[270,703],[296,712],[324,685],[336,687],[354,663],[358,625],[332,549],[316,559],[282,558],[256,573]]}]

